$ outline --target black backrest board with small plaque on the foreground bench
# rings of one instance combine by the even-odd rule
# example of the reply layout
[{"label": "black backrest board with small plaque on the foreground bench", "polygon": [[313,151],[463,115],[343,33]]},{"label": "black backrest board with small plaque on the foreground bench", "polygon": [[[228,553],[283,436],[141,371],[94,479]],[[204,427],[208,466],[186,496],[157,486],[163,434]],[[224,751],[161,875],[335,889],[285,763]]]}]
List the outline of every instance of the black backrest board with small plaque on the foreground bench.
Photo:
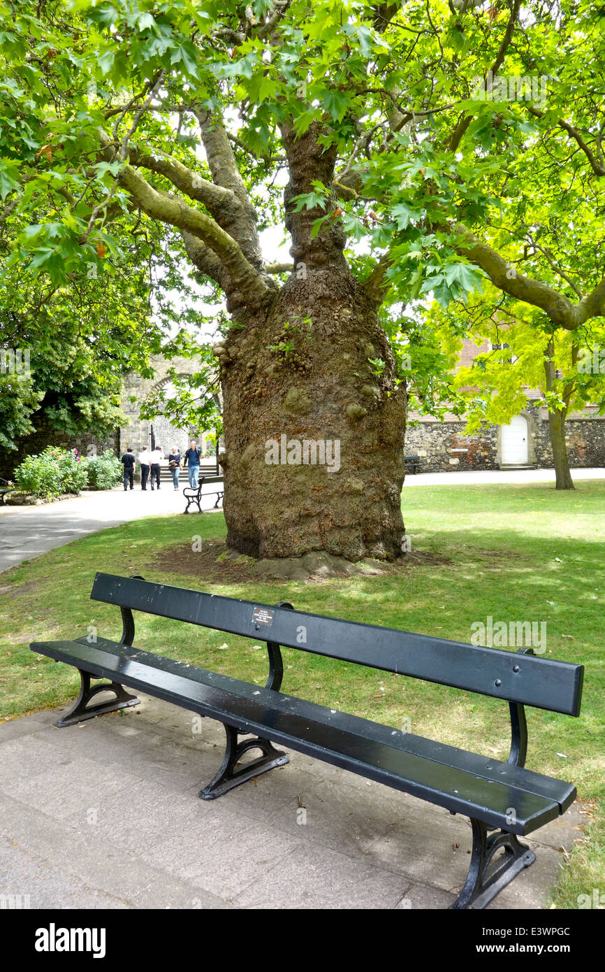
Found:
[{"label": "black backrest board with small plaque on the foreground bench", "polygon": [[120,608],[451,685],[537,709],[578,715],[584,667],[535,655],[272,608],[149,580],[97,573],[90,597]]}]

